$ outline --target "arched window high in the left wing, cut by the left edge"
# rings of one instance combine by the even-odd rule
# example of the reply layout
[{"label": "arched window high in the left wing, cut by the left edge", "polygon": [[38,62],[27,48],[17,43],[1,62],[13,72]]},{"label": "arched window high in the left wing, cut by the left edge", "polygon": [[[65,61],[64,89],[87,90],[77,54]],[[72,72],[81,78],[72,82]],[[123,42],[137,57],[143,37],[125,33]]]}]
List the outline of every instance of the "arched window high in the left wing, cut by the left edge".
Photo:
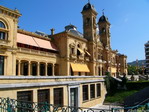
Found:
[{"label": "arched window high in the left wing, cut by the left edge", "polygon": [[7,40],[7,29],[2,21],[0,21],[0,40]]}]

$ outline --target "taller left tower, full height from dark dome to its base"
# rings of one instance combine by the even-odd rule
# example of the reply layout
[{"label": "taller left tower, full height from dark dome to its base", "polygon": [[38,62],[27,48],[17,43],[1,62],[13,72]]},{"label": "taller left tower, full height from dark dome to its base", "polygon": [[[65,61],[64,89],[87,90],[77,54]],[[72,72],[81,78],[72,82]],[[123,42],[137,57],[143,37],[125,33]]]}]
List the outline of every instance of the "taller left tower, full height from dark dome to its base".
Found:
[{"label": "taller left tower, full height from dark dome to its base", "polygon": [[88,2],[82,10],[83,16],[83,34],[84,38],[88,40],[88,51],[91,54],[90,56],[90,75],[96,74],[96,16],[97,12],[93,5]]}]

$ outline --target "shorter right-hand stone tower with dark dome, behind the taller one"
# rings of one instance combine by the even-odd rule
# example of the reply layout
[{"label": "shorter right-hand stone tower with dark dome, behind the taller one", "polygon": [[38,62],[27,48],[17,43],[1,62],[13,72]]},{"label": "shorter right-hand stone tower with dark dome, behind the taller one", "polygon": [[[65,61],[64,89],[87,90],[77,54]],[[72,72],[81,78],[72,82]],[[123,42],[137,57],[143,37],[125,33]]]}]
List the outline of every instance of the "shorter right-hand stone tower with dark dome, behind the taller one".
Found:
[{"label": "shorter right-hand stone tower with dark dome, behind the taller one", "polygon": [[99,18],[98,21],[98,27],[99,27],[99,35],[100,40],[106,49],[110,49],[110,23],[108,21],[108,18],[106,18],[103,15]]}]

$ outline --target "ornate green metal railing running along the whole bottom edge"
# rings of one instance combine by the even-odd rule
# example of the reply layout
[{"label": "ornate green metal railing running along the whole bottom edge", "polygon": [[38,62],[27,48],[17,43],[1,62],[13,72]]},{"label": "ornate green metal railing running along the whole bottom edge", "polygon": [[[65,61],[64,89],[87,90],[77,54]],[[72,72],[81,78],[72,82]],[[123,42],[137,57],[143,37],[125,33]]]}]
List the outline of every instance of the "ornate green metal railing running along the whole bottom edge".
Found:
[{"label": "ornate green metal railing running along the whole bottom edge", "polygon": [[82,108],[71,106],[52,105],[46,102],[18,101],[0,97],[0,112],[149,112],[149,102],[128,108]]}]

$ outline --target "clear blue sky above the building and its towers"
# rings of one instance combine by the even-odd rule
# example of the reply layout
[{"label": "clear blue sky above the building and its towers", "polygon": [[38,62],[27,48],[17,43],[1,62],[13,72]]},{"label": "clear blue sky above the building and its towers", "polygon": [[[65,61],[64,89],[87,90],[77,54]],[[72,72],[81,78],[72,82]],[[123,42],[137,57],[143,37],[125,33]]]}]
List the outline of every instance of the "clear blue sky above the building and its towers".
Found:
[{"label": "clear blue sky above the building and its towers", "polygon": [[[0,0],[0,5],[17,8],[22,16],[19,27],[27,31],[50,34],[64,31],[73,24],[83,32],[81,11],[88,0]],[[102,10],[111,23],[111,47],[127,55],[127,61],[145,59],[144,44],[149,41],[149,0],[90,0],[98,12]]]}]

